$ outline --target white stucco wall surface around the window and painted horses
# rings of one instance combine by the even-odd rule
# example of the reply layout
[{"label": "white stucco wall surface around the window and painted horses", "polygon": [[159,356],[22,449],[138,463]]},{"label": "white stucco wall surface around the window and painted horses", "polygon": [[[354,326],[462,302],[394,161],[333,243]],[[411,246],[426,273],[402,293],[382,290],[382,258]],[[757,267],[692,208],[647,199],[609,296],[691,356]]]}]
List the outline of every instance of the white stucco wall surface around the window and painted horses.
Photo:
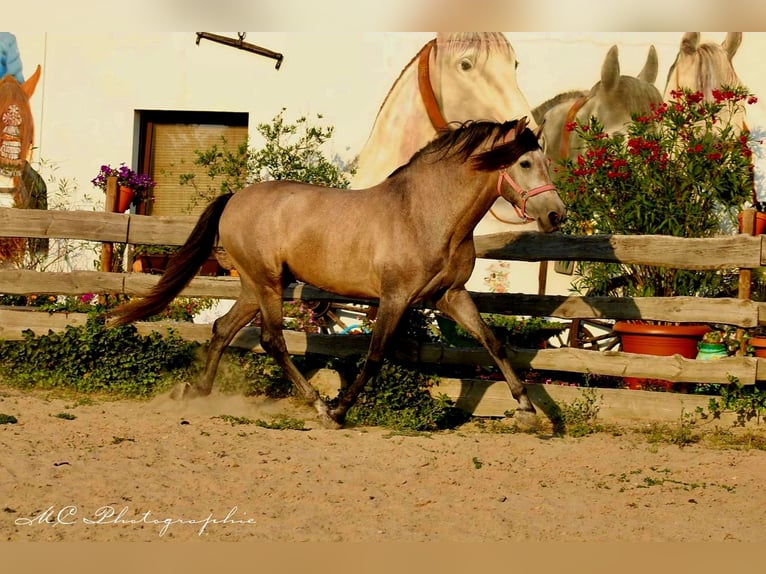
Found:
[{"label": "white stucco wall surface around the window and painted horses", "polygon": [[[228,34],[235,37],[234,33]],[[510,32],[520,61],[519,86],[531,106],[570,89],[590,88],[607,50],[617,44],[624,74],[637,74],[647,50],[659,55],[662,92],[683,32]],[[335,126],[333,151],[351,159],[362,148],[375,114],[399,72],[434,34],[430,32],[253,32],[246,41],[281,52],[273,60],[202,40],[193,32],[136,34],[16,33],[24,74],[43,67],[32,98],[34,159],[54,162],[78,186],[72,204],[89,209],[90,185],[102,163],[135,165],[135,110],[211,110],[250,114],[255,126],[282,107],[288,118],[321,113]],[[724,32],[705,32],[721,42]],[[748,123],[766,126],[766,33],[745,32],[735,56],[743,82],[761,101]],[[762,163],[762,162],[760,162]],[[763,171],[759,165],[759,171]],[[513,262],[512,291],[536,292],[536,264]],[[473,288],[478,285],[472,285]],[[549,293],[566,293],[568,278],[549,278]]]}]

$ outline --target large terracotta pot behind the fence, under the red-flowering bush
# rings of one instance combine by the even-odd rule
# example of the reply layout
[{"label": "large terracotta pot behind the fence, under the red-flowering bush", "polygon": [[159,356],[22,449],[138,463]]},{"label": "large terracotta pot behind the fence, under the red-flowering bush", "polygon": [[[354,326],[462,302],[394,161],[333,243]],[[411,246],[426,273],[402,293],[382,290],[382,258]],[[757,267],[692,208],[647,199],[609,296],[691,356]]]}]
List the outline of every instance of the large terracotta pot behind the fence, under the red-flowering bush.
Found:
[{"label": "large terracotta pot behind the fence, under the red-flowering bush", "polygon": [[[697,356],[697,344],[710,331],[708,325],[651,325],[618,321],[614,332],[620,335],[622,350],[626,353],[668,357],[681,355],[687,359]],[[625,377],[628,388],[641,389],[660,386],[670,389],[671,381]]]}]

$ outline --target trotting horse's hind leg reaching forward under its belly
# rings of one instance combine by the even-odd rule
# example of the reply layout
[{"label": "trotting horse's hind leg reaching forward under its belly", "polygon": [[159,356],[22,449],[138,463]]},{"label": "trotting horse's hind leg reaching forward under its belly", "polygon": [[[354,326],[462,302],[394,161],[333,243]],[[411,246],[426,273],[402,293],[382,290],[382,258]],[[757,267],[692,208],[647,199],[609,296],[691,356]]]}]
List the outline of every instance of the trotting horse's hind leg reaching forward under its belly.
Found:
[{"label": "trotting horse's hind leg reaching forward under its belly", "polygon": [[337,428],[338,424],[330,417],[327,405],[317,390],[305,379],[295,366],[287,352],[287,344],[282,333],[282,292],[278,288],[263,287],[261,299],[261,346],[282,368],[285,376],[307,403],[314,406],[319,420],[326,427]]}]

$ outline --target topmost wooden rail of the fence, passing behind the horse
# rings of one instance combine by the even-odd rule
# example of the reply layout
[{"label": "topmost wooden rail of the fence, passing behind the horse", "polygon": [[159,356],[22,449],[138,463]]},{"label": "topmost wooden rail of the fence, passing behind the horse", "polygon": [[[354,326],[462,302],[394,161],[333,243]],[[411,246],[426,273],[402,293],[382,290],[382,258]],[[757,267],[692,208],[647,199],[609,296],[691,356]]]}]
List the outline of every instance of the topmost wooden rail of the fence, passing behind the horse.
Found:
[{"label": "topmost wooden rail of the fence, passing behind the horse", "polygon": [[[196,217],[91,211],[0,208],[0,236],[67,238],[144,245],[181,245]],[[476,238],[476,254],[516,261],[604,261],[675,267],[734,269],[766,265],[763,236],[687,239],[662,235],[566,236],[506,232]]]}]

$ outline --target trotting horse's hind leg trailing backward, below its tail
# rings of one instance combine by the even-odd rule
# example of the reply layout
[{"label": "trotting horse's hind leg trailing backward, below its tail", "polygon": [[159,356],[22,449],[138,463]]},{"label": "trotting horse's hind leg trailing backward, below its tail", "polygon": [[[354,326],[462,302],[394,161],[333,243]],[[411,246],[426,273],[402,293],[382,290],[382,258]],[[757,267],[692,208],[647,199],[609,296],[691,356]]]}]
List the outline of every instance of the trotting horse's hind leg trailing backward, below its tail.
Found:
[{"label": "trotting horse's hind leg trailing backward, below its tail", "polygon": [[223,317],[213,323],[213,337],[207,352],[205,372],[196,384],[182,384],[174,390],[174,397],[198,397],[210,394],[221,362],[221,355],[239,330],[252,321],[258,313],[258,304],[251,297],[241,296]]}]

